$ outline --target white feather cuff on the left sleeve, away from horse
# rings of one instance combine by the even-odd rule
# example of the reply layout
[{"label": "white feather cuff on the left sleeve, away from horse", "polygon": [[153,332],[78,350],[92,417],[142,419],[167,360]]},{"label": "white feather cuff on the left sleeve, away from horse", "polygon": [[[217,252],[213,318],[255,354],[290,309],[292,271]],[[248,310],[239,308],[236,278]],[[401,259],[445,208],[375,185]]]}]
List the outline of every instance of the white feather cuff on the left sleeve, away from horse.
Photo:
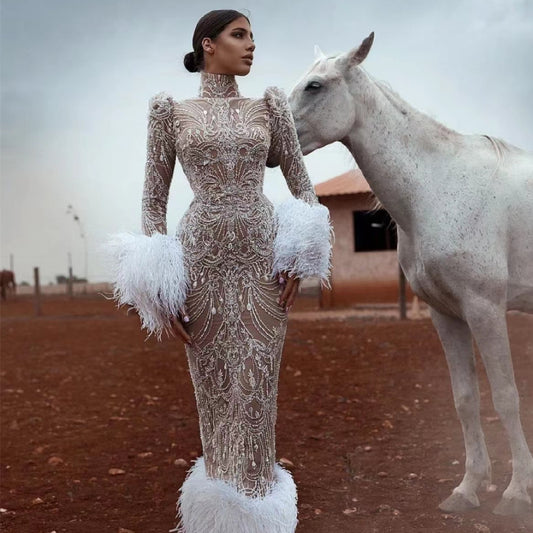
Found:
[{"label": "white feather cuff on the left sleeve, away from horse", "polygon": [[[183,248],[177,237],[115,233],[103,245],[117,307],[134,307],[148,337],[171,334],[170,317],[178,316],[188,289]],[[148,338],[147,337],[147,338]]]}]

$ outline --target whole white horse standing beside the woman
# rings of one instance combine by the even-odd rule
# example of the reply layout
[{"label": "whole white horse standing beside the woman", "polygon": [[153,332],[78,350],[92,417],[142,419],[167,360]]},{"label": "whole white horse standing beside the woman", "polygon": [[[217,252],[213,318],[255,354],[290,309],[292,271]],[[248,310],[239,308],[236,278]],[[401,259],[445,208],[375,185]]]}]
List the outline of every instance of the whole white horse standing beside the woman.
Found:
[{"label": "whole white horse standing beside the woman", "polygon": [[304,154],[335,141],[352,153],[398,228],[400,264],[431,306],[462,424],[465,475],[440,504],[479,506],[491,463],[480,423],[473,340],[507,432],[513,475],[494,512],[531,509],[533,458],[519,415],[506,310],[533,313],[533,155],[462,135],[403,101],[359,65],[374,39],[317,57],[289,95]]}]

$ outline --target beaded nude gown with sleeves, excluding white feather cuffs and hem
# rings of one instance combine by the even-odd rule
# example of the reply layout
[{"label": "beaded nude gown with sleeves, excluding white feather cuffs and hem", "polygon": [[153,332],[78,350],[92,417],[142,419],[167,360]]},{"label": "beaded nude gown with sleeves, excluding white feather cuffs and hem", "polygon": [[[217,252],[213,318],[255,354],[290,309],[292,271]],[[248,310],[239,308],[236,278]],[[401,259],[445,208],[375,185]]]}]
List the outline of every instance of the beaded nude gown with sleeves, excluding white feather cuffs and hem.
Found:
[{"label": "beaded nude gown with sleeves, excluding white feather cuffs and hem", "polygon": [[285,94],[269,87],[263,98],[241,97],[227,74],[202,72],[200,81],[200,98],[150,101],[142,227],[166,233],[177,157],[194,191],[176,233],[191,283],[186,352],[206,471],[263,496],[274,476],[287,326],[270,275],[276,223],[262,192],[265,166],[280,165],[295,197],[317,198]]}]

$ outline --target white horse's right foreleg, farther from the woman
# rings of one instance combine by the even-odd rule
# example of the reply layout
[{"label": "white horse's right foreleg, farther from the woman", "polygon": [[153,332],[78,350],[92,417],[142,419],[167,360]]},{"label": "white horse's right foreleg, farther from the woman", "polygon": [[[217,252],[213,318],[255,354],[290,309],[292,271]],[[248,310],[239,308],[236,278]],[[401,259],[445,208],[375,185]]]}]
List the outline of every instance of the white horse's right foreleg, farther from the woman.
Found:
[{"label": "white horse's right foreleg, farther from the woman", "polygon": [[476,312],[468,322],[485,363],[494,408],[507,432],[513,458],[511,483],[494,512],[527,512],[531,509],[528,489],[533,488],[533,457],[520,422],[505,309],[487,301],[477,302]]}]

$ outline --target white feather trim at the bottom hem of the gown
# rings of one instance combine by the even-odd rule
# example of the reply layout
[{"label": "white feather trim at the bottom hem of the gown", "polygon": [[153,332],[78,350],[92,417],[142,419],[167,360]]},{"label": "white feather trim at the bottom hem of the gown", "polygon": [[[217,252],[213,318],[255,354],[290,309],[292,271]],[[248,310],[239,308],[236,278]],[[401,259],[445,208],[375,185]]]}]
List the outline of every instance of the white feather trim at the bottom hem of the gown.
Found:
[{"label": "white feather trim at the bottom hem of the gown", "polygon": [[222,479],[206,475],[203,457],[189,470],[177,503],[177,533],[294,533],[296,485],[276,464],[274,483],[263,498],[246,496]]}]

